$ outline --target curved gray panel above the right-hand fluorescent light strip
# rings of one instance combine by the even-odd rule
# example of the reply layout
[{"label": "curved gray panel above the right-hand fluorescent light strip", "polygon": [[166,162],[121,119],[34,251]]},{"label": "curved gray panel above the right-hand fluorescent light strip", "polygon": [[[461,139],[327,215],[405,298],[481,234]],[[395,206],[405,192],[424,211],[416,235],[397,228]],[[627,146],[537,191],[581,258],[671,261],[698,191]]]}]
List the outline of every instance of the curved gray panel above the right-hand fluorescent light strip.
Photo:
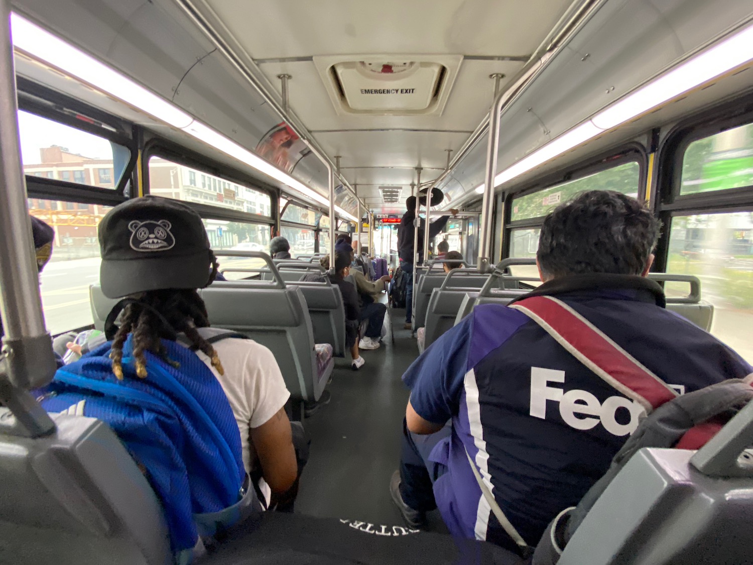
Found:
[{"label": "curved gray panel above the right-hand fluorescent light strip", "polygon": [[[709,7],[698,0],[676,0],[664,11],[649,9],[642,0],[602,7],[502,115],[497,172],[753,15],[748,2],[722,0],[713,4],[715,11],[725,13],[708,18]],[[668,49],[666,38],[675,34],[675,26],[681,29],[683,41]],[[617,45],[614,38],[619,39]],[[620,128],[610,135],[624,139],[625,133]],[[464,179],[463,185],[477,187],[483,183],[486,136],[482,139],[456,167],[456,177]],[[566,161],[572,162],[569,158]],[[541,169],[562,164],[559,159],[556,165]]]}]

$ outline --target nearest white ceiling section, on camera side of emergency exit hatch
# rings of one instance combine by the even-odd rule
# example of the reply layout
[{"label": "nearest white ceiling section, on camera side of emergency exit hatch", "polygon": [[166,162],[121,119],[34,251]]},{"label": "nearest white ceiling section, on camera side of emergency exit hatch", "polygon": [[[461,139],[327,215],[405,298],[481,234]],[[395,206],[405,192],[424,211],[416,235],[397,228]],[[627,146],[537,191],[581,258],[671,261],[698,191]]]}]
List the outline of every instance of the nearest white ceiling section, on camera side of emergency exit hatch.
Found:
[{"label": "nearest white ceiling section, on camera side of emergency exit hatch", "polygon": [[211,0],[255,59],[337,53],[528,55],[566,0]]}]

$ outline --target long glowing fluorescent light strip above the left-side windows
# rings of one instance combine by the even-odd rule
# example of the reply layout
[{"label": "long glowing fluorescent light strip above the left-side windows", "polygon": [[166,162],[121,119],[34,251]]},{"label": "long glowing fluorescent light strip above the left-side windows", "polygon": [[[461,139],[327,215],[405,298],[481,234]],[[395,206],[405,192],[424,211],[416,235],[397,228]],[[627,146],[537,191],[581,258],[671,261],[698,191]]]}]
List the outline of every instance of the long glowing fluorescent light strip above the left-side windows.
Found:
[{"label": "long glowing fluorescent light strip above the left-side windows", "polygon": [[[224,154],[230,155],[230,157],[251,166],[255,170],[288,185],[300,194],[329,206],[327,198],[313,191],[303,182],[294,179],[288,173],[279,170],[273,164],[252,153],[252,151],[248,151],[248,149],[212,130],[211,127],[202,124],[200,121],[194,120],[191,115],[177,106],[151,93],[130,78],[110,69],[84,51],[73,47],[18,14],[11,14],[11,32],[15,48],[26,51],[26,53],[43,60],[45,63],[62,69],[67,74],[111,94],[123,100],[123,102],[139,108],[139,110],[145,111],[154,118],[191,134],[201,142],[211,145]],[[335,206],[335,209],[343,217],[355,221],[354,215],[349,214],[339,206]]]}]

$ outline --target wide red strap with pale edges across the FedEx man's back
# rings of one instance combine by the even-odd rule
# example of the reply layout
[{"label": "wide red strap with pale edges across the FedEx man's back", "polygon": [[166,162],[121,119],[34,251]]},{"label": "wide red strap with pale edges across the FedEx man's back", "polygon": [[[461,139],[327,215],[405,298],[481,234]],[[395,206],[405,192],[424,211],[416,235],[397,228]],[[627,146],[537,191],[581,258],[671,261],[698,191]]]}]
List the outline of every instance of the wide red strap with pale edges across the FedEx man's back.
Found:
[{"label": "wide red strap with pale edges across the FedEx man's back", "polygon": [[552,296],[532,296],[509,307],[526,314],[578,361],[639,402],[647,413],[677,396],[663,380],[564,302]]}]

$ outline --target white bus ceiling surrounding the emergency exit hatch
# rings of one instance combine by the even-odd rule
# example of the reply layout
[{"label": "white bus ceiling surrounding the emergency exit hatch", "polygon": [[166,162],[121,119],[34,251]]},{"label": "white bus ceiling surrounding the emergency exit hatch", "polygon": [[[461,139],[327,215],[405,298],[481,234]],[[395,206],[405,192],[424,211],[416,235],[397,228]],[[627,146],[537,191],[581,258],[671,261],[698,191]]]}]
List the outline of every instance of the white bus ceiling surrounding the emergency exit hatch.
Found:
[{"label": "white bus ceiling surrounding the emergency exit hatch", "polygon": [[[288,85],[292,111],[369,205],[380,185],[402,185],[415,166],[434,179],[489,111],[494,81],[502,86],[543,41],[569,0],[203,0],[279,93]],[[464,59],[438,115],[338,115],[313,56],[413,53]],[[507,59],[506,59],[507,58]],[[375,168],[364,168],[375,167]],[[388,168],[388,167],[407,167]],[[434,168],[434,170],[430,170]],[[404,199],[403,199],[404,200]],[[401,205],[402,206],[402,205]]]}]

